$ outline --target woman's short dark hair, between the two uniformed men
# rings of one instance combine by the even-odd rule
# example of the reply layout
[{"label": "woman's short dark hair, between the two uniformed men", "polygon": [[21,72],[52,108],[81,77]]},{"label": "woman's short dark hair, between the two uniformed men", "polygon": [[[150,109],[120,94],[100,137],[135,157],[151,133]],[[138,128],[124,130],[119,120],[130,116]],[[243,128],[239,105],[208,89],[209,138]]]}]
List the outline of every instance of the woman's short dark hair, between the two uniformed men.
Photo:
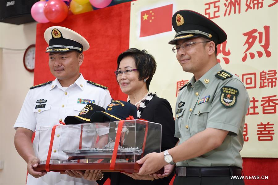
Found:
[{"label": "woman's short dark hair, between the two uniformed men", "polygon": [[154,76],[156,66],[157,66],[153,55],[150,55],[144,49],[140,51],[137,48],[130,48],[122,52],[118,56],[117,69],[119,69],[121,60],[126,56],[131,56],[135,60],[135,65],[139,72],[138,80],[144,80],[149,77],[148,80],[146,81],[147,89],[149,90],[150,82]]}]

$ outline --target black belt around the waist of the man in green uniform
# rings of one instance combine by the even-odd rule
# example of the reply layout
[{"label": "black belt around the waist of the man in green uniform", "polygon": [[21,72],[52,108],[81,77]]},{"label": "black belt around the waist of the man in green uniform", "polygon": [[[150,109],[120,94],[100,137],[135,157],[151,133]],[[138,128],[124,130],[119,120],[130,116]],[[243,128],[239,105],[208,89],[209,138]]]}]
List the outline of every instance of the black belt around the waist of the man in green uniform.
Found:
[{"label": "black belt around the waist of the man in green uniform", "polygon": [[239,167],[177,167],[176,175],[179,177],[215,177],[242,175],[242,169]]}]

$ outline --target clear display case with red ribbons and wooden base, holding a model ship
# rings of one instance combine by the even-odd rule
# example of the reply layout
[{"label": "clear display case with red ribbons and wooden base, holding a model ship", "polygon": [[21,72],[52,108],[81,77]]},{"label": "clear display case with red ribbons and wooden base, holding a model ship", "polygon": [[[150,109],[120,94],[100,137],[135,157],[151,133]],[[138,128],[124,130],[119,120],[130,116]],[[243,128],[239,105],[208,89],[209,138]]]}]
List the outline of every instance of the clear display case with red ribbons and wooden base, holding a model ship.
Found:
[{"label": "clear display case with red ribbons and wooden base, holding a model ship", "polygon": [[161,124],[123,120],[40,127],[36,171],[138,172],[137,160],[161,152]]}]

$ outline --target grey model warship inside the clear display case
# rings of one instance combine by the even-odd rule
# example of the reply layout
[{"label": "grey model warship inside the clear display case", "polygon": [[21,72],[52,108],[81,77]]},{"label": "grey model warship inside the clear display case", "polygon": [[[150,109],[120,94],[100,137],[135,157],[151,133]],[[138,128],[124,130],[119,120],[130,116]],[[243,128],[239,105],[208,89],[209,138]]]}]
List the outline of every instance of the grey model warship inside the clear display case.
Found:
[{"label": "grey model warship inside the clear display case", "polygon": [[[78,150],[63,150],[69,158],[68,160],[76,160],[76,159],[93,159],[93,158],[107,158],[111,159],[113,150],[114,150],[115,142],[112,138],[109,138],[109,142],[103,148],[83,148]],[[117,158],[124,158],[125,160],[128,158],[134,158],[134,155],[141,155],[143,150],[138,147],[127,147],[124,148],[122,146],[118,146]]]}]

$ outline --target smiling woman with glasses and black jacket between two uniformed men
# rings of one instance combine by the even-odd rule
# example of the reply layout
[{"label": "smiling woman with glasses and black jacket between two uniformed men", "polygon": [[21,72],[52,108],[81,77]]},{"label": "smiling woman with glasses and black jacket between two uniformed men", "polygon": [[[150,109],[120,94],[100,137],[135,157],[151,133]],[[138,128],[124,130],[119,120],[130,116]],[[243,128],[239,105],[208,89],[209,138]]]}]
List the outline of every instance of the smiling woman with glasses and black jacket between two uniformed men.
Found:
[{"label": "smiling woman with glasses and black jacket between two uniformed men", "polygon": [[[159,98],[156,94],[149,92],[150,82],[156,70],[154,57],[145,50],[140,51],[131,48],[119,55],[117,64],[118,67],[115,71],[117,82],[122,92],[128,94],[128,101],[137,106],[138,118],[162,125],[162,151],[174,147],[178,138],[174,137],[175,121],[171,105],[166,99]],[[150,134],[148,133],[148,135]],[[155,142],[155,138],[153,136],[150,138],[148,139],[147,136],[145,153],[148,153],[147,150],[150,147],[152,150],[158,149],[160,152],[160,146],[152,144]],[[154,179],[154,176],[150,175],[139,176],[120,172],[104,172],[103,178],[96,182],[103,185],[108,177],[111,180],[111,185],[168,185],[173,173],[163,179]]]}]

